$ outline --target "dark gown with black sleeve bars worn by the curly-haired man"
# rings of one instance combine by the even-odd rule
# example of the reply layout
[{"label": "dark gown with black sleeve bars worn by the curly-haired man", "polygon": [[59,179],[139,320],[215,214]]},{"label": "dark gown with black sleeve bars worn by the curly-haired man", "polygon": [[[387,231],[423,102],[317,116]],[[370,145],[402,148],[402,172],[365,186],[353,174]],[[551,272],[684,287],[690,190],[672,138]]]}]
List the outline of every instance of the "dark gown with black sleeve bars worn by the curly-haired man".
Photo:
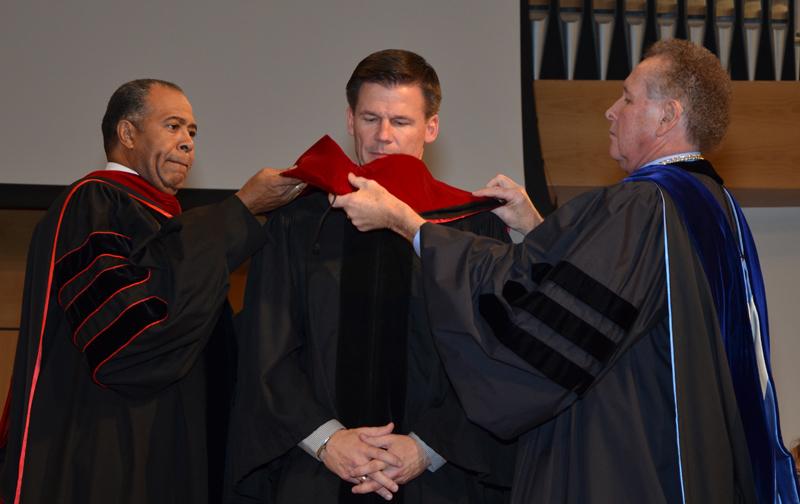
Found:
[{"label": "dark gown with black sleeve bars worn by the curly-haired man", "polygon": [[643,182],[592,191],[519,245],[422,227],[431,326],[464,408],[520,436],[513,502],[755,500],[714,302],[664,198]]}]

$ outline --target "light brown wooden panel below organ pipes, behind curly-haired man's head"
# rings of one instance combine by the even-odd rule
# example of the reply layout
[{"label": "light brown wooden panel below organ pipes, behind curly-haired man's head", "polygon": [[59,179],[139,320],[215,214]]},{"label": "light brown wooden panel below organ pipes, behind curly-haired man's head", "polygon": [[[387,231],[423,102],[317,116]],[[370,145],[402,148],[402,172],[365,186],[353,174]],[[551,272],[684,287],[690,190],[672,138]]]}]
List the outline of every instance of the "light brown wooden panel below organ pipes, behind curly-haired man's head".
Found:
[{"label": "light brown wooden panel below organ pipes, behind curly-haired man's head", "polygon": [[[621,93],[620,81],[534,84],[545,170],[557,194],[572,195],[623,178],[608,157],[604,117]],[[736,81],[731,116],[725,140],[707,153],[728,187],[745,205],[800,205],[800,86]]]}]

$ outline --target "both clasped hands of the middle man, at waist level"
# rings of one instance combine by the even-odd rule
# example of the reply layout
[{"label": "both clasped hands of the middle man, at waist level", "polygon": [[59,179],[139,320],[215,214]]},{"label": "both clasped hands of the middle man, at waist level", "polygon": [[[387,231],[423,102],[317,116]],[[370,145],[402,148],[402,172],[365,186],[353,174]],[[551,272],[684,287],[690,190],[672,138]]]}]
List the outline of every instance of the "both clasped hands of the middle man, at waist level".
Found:
[{"label": "both clasped hands of the middle man, at waist level", "polygon": [[399,485],[419,476],[429,461],[419,444],[403,434],[392,434],[394,424],[382,427],[342,429],[325,448],[325,466],[345,481],[353,493],[375,492],[386,500]]}]

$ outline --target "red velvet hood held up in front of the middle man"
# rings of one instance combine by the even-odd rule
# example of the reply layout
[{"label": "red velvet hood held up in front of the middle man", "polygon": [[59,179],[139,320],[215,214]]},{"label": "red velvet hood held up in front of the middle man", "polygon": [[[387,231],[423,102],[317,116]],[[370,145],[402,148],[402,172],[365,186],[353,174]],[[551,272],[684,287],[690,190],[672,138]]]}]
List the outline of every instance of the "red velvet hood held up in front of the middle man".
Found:
[{"label": "red velvet hood held up in front of the middle man", "polygon": [[283,172],[283,175],[300,179],[328,193],[341,195],[353,192],[353,187],[347,181],[347,174],[352,172],[376,180],[420,214],[454,207],[465,207],[466,214],[474,214],[500,205],[492,199],[475,197],[436,180],[425,163],[406,154],[392,154],[363,166],[357,165],[328,135],[303,153],[296,164],[296,168]]}]

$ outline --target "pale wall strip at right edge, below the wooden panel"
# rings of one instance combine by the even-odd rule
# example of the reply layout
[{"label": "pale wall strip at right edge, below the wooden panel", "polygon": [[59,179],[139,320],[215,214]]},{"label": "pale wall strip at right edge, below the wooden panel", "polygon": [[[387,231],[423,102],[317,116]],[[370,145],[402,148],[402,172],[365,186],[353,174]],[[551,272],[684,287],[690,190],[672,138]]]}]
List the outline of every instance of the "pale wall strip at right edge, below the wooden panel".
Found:
[{"label": "pale wall strip at right edge, below the wooden panel", "polygon": [[772,373],[786,445],[800,438],[800,208],[745,208],[767,290]]}]

